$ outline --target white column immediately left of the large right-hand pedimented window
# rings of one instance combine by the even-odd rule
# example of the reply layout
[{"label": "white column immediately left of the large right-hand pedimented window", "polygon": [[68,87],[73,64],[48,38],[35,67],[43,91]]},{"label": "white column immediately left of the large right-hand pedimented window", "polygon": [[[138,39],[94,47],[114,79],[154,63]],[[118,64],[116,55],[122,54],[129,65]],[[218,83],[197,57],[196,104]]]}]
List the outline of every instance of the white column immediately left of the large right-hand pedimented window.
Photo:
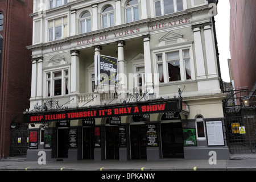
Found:
[{"label": "white column immediately left of the large right-hand pedimented window", "polygon": [[154,93],[151,69],[150,35],[143,35],[145,80],[148,94]]}]

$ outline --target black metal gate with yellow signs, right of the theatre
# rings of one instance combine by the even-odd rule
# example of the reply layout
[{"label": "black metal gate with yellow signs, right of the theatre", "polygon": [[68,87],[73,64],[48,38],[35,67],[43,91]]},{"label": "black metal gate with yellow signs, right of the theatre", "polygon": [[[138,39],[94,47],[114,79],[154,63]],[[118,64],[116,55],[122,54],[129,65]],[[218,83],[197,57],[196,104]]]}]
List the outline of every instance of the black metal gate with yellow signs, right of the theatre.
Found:
[{"label": "black metal gate with yellow signs, right of the theatre", "polygon": [[256,151],[256,102],[247,89],[228,90],[224,103],[226,137],[231,154]]}]

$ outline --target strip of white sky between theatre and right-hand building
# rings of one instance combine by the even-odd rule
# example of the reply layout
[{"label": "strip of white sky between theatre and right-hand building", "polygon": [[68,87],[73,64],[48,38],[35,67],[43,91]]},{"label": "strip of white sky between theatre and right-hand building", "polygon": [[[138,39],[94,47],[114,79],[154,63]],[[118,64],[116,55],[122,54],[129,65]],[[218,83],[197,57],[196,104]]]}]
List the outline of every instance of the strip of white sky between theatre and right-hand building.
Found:
[{"label": "strip of white sky between theatre and right-hand building", "polygon": [[220,0],[217,5],[218,14],[215,16],[216,35],[218,42],[218,52],[220,53],[221,77],[225,82],[229,80],[228,59],[230,59],[229,49],[229,17],[230,5],[229,0]]}]

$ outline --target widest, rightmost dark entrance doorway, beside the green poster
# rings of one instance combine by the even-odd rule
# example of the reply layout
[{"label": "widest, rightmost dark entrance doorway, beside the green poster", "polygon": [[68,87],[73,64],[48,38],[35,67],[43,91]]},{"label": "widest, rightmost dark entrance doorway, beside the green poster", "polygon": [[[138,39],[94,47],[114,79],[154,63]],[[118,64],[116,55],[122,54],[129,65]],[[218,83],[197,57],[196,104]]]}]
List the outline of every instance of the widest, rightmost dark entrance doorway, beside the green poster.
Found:
[{"label": "widest, rightmost dark entrance doorway, beside the green poster", "polygon": [[181,123],[161,124],[163,158],[183,158],[184,144]]}]

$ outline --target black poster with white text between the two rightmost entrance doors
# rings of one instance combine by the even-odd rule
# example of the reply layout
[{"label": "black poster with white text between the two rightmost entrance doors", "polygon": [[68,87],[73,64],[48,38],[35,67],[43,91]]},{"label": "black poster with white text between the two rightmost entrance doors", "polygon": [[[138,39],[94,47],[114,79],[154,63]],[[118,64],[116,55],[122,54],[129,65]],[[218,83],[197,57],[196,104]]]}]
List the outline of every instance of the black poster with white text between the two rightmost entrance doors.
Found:
[{"label": "black poster with white text between the two rightmost entrance doors", "polygon": [[150,124],[146,125],[147,129],[147,146],[148,147],[158,147],[158,125]]}]

